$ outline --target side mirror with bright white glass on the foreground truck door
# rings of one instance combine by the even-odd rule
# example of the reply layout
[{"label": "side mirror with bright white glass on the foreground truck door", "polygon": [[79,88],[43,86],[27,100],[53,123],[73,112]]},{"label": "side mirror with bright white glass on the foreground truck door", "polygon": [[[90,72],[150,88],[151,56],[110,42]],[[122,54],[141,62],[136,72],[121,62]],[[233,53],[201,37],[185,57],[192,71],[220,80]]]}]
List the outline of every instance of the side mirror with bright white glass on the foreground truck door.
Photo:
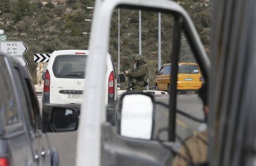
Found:
[{"label": "side mirror with bright white glass on the foreground truck door", "polygon": [[118,105],[118,134],[151,140],[154,133],[154,96],[143,92],[123,93]]}]

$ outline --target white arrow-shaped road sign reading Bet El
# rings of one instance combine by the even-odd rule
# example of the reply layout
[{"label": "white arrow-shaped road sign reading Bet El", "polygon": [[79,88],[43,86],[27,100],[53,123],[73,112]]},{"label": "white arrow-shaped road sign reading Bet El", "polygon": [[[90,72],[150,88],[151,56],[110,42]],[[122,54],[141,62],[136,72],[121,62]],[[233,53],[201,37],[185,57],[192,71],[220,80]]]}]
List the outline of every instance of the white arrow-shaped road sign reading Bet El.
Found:
[{"label": "white arrow-shaped road sign reading Bet El", "polygon": [[22,57],[27,51],[27,46],[22,41],[1,41],[0,50],[10,56]]}]

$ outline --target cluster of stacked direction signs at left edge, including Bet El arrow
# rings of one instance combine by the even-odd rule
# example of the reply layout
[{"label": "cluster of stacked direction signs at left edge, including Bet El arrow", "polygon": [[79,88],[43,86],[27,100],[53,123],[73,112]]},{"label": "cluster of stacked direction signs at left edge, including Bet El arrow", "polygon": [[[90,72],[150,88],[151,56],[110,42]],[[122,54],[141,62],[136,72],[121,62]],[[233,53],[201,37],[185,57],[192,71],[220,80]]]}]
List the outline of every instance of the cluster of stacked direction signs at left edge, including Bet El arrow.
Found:
[{"label": "cluster of stacked direction signs at left edge, including Bet El arrow", "polygon": [[27,46],[22,41],[2,41],[4,39],[7,39],[6,35],[0,35],[0,50],[18,59],[24,67],[27,67],[28,63],[22,57],[27,52]]}]

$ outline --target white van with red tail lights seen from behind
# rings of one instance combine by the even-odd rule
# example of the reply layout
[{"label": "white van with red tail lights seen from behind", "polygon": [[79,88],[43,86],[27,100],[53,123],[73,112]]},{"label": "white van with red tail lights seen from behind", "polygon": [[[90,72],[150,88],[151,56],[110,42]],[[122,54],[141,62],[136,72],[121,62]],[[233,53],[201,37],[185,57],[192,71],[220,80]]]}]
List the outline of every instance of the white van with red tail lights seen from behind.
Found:
[{"label": "white van with red tail lights seen from behind", "polygon": [[[86,59],[88,50],[56,50],[52,53],[46,73],[42,99],[43,126],[47,130],[48,117],[52,107],[72,108],[80,112],[84,92]],[[106,55],[106,101],[108,118],[115,122],[117,105],[117,75],[112,56]],[[86,93],[86,90],[85,90]]]}]

